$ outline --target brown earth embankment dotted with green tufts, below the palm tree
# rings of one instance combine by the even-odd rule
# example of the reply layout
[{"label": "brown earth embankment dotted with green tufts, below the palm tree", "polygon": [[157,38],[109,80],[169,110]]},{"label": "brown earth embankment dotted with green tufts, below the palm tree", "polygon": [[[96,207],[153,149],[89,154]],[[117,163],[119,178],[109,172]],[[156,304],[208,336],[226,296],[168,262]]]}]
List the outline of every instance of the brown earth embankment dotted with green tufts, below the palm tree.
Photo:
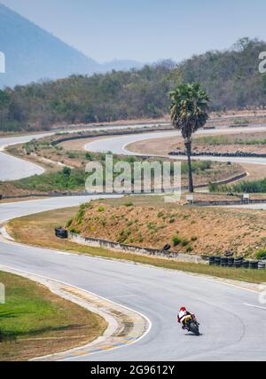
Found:
[{"label": "brown earth embankment dotted with green tufts, below the palm tree", "polygon": [[130,197],[92,201],[82,205],[67,226],[83,237],[103,238],[128,245],[162,249],[171,244],[176,251],[198,255],[254,257],[266,247],[266,213],[249,209],[182,207]]}]

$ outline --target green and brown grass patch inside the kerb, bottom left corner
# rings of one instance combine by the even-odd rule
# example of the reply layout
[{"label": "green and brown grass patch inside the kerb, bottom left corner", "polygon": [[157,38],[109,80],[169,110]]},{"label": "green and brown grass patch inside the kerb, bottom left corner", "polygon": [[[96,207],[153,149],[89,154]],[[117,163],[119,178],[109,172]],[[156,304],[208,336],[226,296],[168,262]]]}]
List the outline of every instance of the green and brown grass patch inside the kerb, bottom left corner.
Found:
[{"label": "green and brown grass patch inside the kerb, bottom left corner", "polygon": [[106,320],[34,281],[0,272],[6,304],[0,304],[0,360],[27,360],[90,343]]}]

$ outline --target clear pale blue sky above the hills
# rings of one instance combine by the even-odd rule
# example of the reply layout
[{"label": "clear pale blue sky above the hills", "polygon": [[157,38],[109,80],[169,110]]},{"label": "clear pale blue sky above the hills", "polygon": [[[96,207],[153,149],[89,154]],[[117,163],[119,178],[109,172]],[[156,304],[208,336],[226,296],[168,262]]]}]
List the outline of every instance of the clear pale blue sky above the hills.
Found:
[{"label": "clear pale blue sky above the hills", "polygon": [[266,40],[265,0],[0,0],[100,62],[180,61],[225,49],[240,37]]}]

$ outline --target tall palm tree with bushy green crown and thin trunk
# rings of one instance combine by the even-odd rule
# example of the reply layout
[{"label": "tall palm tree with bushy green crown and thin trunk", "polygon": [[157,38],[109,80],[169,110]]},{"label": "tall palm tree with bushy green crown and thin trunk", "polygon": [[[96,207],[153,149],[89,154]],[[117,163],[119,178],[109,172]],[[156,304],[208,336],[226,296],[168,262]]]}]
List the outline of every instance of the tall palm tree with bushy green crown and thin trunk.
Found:
[{"label": "tall palm tree with bushy green crown and thin trunk", "polygon": [[192,178],[192,133],[202,128],[208,119],[209,97],[200,83],[182,84],[169,94],[171,99],[171,120],[181,130],[188,159],[189,192],[194,192]]}]

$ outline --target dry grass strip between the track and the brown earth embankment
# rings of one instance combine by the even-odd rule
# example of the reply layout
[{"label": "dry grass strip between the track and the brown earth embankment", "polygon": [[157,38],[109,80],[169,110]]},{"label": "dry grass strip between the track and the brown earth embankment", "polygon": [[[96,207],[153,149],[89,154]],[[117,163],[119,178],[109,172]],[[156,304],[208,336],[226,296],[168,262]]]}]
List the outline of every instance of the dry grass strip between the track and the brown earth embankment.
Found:
[{"label": "dry grass strip between the track and the brown earth embankment", "polygon": [[[158,198],[154,196],[154,201]],[[122,259],[137,264],[153,265],[160,268],[207,274],[217,278],[244,280],[251,283],[262,283],[266,281],[266,271],[257,272],[243,269],[210,267],[207,265],[194,265],[176,262],[170,259],[145,257],[134,254],[114,252],[106,249],[81,246],[71,241],[59,240],[54,235],[53,228],[64,225],[66,220],[76,215],[78,208],[52,210],[38,215],[21,217],[12,220],[8,225],[8,231],[17,241],[28,244],[28,233],[30,232],[30,244],[37,247],[59,249],[84,254],[92,257],[105,257],[109,259]]]}]

